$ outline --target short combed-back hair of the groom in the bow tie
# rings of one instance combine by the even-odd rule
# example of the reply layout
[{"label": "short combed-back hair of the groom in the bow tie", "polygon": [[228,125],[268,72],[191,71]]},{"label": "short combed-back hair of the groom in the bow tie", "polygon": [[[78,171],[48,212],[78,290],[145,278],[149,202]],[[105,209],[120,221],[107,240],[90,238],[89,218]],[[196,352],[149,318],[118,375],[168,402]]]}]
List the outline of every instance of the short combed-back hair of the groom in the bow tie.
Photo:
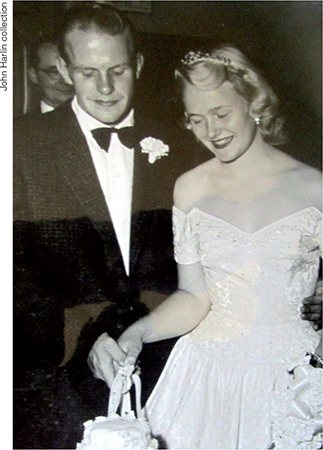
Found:
[{"label": "short combed-back hair of the groom in the bow tie", "polygon": [[136,32],[127,15],[104,2],[82,2],[66,10],[57,32],[58,49],[62,58],[68,62],[66,36],[72,30],[99,30],[110,36],[118,36],[126,31],[130,36],[130,52],[136,54]]}]

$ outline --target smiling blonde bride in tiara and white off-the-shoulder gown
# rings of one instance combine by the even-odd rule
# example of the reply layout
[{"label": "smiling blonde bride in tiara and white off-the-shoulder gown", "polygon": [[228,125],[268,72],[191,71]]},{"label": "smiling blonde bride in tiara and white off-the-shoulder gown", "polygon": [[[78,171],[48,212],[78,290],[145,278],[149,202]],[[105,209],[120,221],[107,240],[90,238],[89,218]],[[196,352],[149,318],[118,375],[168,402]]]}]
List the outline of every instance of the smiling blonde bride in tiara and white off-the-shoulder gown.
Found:
[{"label": "smiling blonde bride in tiara and white off-the-shoulder gown", "polygon": [[300,308],[318,275],[320,173],[275,147],[277,98],[236,48],[190,52],[176,78],[214,158],[175,186],[179,290],[118,343],[132,363],[184,335],[146,405],[167,448],[318,448],[320,335]]}]

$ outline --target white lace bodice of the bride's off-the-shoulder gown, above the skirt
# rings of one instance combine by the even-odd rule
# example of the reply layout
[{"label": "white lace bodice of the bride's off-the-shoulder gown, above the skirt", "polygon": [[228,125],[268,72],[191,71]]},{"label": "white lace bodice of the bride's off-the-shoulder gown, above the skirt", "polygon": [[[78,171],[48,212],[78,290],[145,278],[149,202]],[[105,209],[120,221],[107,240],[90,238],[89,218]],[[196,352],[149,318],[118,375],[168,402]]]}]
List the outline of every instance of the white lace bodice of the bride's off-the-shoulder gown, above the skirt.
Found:
[{"label": "white lace bodice of the bride's off-the-shoulder gown, above the skirt", "polygon": [[316,285],[321,213],[309,207],[246,233],[199,208],[186,215],[174,207],[173,223],[175,259],[202,264],[212,303],[190,339],[231,342],[241,360],[263,361],[269,348],[269,360],[304,362],[304,349],[318,343],[300,307]]}]

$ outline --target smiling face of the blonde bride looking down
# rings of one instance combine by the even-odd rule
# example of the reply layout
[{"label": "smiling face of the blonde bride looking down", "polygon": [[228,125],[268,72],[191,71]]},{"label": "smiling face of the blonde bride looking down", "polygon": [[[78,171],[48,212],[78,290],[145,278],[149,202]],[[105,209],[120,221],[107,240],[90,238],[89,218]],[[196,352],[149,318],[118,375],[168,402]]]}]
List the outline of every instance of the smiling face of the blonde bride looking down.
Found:
[{"label": "smiling face of the blonde bride looking down", "polygon": [[230,163],[251,146],[256,124],[249,115],[249,102],[225,81],[213,91],[185,84],[183,101],[189,128],[222,162]]}]

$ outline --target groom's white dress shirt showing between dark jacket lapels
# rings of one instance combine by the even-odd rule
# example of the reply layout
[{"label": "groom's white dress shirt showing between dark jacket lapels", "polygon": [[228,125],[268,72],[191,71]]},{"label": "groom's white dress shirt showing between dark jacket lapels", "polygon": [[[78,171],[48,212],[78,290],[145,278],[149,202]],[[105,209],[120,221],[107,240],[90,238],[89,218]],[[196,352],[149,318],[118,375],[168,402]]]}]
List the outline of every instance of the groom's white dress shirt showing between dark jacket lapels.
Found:
[{"label": "groom's white dress shirt showing between dark jacket lapels", "polygon": [[[93,164],[118,239],[125,270],[127,275],[129,275],[134,149],[125,147],[120,142],[118,135],[112,133],[109,151],[102,150],[91,131],[95,128],[110,127],[87,114],[80,107],[76,96],[72,101],[72,109],[89,146]],[[115,128],[133,126],[133,124],[134,112],[131,110],[128,116],[117,124]]]}]

